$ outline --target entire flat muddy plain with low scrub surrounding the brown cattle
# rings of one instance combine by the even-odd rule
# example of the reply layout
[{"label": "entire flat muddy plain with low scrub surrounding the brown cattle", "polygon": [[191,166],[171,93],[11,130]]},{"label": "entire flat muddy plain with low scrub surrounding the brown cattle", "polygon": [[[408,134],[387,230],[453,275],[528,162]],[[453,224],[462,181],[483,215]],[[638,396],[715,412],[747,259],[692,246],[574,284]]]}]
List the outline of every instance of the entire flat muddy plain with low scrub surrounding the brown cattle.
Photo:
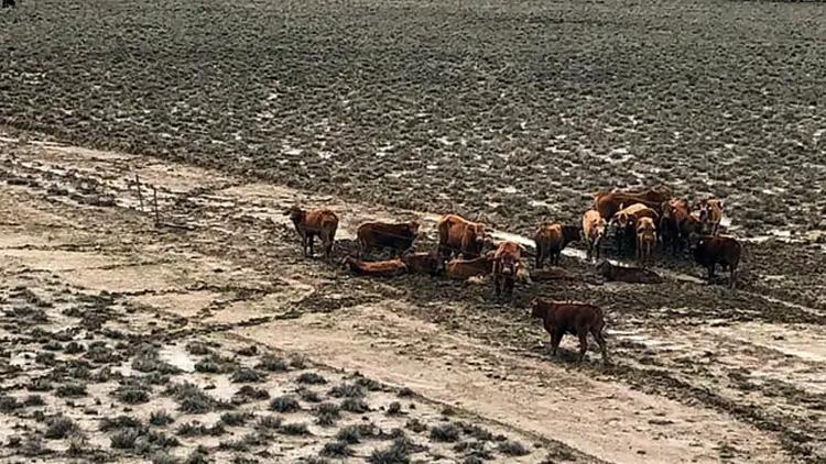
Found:
[{"label": "entire flat muddy plain with low scrub surrounding the brown cattle", "polygon": [[[0,11],[3,460],[826,460],[820,5],[23,3]],[[281,216],[336,209],[338,256],[417,218],[427,250],[443,212],[525,235],[661,183],[724,199],[738,290],[662,256],[665,284],[605,284],[572,250],[582,279],[504,306],[303,259]],[[613,364],[551,358],[536,296],[602,306]]]}]

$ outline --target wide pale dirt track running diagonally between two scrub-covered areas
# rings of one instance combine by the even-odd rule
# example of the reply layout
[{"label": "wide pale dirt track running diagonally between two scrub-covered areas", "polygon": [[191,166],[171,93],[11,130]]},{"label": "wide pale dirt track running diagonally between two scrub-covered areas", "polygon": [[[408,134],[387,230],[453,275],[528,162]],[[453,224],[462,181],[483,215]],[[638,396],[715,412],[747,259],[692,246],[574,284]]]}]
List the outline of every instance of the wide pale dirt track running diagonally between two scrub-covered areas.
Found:
[{"label": "wide pale dirt track running diagonally between two scrub-covered areas", "polygon": [[[610,462],[823,459],[826,316],[817,308],[681,280],[533,284],[508,307],[490,301],[488,286],[355,278],[302,259],[281,211],[296,201],[332,205],[346,218],[343,246],[363,219],[427,224],[432,214],[126,154],[8,139],[0,153],[7,289],[25,283],[41,295],[68,286],[133,308],[123,314],[128,324],[167,314],[229,346],[261,343],[359,371],[545,443],[529,457],[569,446],[572,459]],[[144,196],[148,185],[157,188],[162,220],[172,225],[155,229],[152,214],[138,211],[129,186],[135,174]],[[577,366],[567,352],[550,358],[546,335],[524,308],[534,295],[589,295],[608,308],[616,364],[604,367],[595,356]],[[7,350],[12,360],[17,350]]]}]

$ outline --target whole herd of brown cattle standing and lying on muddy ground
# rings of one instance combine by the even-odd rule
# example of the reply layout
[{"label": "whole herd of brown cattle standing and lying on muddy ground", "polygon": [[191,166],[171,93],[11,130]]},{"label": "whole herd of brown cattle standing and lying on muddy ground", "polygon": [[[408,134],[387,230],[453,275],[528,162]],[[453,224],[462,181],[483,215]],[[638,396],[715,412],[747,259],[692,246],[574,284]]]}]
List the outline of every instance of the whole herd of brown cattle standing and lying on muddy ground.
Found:
[{"label": "whole herd of brown cattle standing and lying on muddy ground", "polygon": [[[338,218],[328,209],[305,211],[297,206],[285,212],[302,240],[304,256],[313,255],[316,236],[322,241],[325,257],[329,261]],[[526,250],[519,243],[494,243],[485,225],[468,221],[458,214],[444,216],[438,224],[438,246],[435,252],[411,252],[421,235],[415,221],[402,223],[367,222],[359,225],[356,236],[358,251],[344,258],[350,270],[367,276],[390,277],[403,273],[432,276],[444,274],[448,278],[468,279],[492,276],[497,298],[512,297],[521,276],[565,278],[558,267],[543,269],[545,262],[559,265],[562,251],[572,242],[582,241],[587,259],[600,259],[607,236],[611,236],[617,253],[633,248],[641,267],[618,266],[600,261],[596,272],[608,280],[656,284],[662,278],[646,268],[653,263],[654,252],[671,251],[675,256],[689,252],[708,272],[708,283],[714,279],[717,265],[729,270],[729,285],[733,288],[741,245],[731,237],[719,235],[722,201],[708,198],[694,203],[685,198],[673,198],[667,187],[657,186],[643,191],[611,191],[597,194],[593,208],[583,214],[582,224],[542,224],[535,232],[535,265],[526,273],[522,257]],[[378,248],[389,248],[392,259],[367,261]],[[587,334],[599,344],[607,360],[602,335],[602,311],[591,305],[535,299],[532,317],[544,321],[551,334],[554,354],[564,334],[579,338],[580,360],[587,351]]]}]

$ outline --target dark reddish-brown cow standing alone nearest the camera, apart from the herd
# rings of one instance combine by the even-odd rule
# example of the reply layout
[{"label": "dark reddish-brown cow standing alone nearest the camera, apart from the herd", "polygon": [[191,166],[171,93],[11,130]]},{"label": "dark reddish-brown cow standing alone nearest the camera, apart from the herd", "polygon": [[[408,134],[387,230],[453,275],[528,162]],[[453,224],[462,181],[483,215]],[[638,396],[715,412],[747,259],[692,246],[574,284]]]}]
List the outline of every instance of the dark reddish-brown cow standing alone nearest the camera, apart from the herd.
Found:
[{"label": "dark reddish-brown cow standing alone nearest the camera, apart from the herd", "polygon": [[579,302],[542,299],[533,300],[531,306],[531,317],[542,318],[545,330],[551,334],[552,355],[556,355],[556,349],[559,347],[563,335],[570,333],[579,338],[579,362],[582,362],[588,351],[588,332],[590,332],[602,352],[602,361],[608,362],[608,350],[602,334],[605,318],[601,309]]}]

